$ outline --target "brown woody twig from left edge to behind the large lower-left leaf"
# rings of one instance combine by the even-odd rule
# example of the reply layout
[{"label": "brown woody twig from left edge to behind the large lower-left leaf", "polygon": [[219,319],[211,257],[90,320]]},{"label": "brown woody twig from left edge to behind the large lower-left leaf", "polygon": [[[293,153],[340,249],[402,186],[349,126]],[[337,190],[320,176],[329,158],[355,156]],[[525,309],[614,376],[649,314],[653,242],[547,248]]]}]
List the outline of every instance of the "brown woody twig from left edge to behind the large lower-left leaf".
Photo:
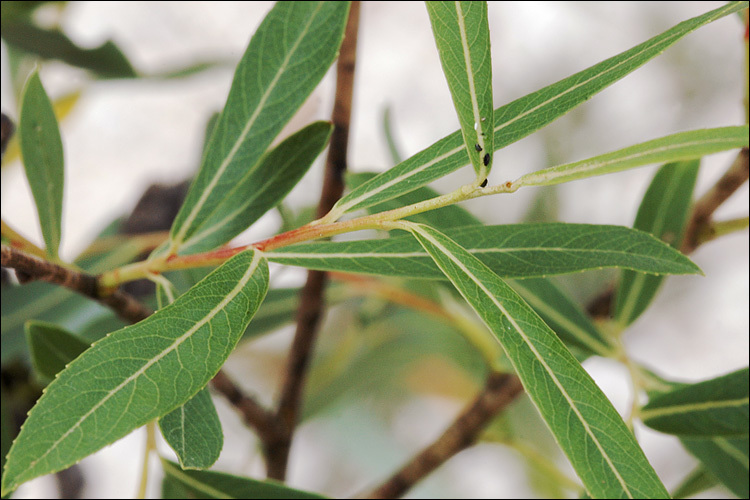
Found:
[{"label": "brown woody twig from left edge to behind the large lower-left leaf", "polygon": [[2,265],[15,269],[21,283],[39,280],[63,286],[112,308],[128,323],[137,323],[152,313],[129,293],[118,290],[110,295],[100,294],[96,276],[53,264],[5,245],[2,246]]}]

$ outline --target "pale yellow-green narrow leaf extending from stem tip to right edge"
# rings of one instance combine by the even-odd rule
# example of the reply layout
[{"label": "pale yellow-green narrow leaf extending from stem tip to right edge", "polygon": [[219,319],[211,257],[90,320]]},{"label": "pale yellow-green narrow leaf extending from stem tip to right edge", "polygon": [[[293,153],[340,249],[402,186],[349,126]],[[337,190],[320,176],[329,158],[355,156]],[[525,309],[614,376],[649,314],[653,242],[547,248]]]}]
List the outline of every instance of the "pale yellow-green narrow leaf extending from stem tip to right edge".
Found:
[{"label": "pale yellow-green narrow leaf extending from stem tip to right edge", "polygon": [[518,187],[551,186],[652,163],[692,160],[747,145],[747,125],[691,130],[636,144],[588,160],[538,170],[516,179],[513,185]]}]

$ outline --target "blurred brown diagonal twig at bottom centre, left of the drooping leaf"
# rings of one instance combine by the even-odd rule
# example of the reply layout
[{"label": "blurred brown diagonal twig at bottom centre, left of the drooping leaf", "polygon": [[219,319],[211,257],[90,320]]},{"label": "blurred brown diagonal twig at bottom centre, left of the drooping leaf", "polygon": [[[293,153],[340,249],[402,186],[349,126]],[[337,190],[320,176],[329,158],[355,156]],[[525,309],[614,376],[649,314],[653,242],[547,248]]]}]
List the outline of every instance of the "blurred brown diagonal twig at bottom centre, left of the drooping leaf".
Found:
[{"label": "blurred brown diagonal twig at bottom centre, left of the drooping leaf", "polygon": [[364,498],[399,498],[430,472],[471,446],[492,418],[507,407],[523,387],[515,375],[491,372],[484,389],[442,436]]}]

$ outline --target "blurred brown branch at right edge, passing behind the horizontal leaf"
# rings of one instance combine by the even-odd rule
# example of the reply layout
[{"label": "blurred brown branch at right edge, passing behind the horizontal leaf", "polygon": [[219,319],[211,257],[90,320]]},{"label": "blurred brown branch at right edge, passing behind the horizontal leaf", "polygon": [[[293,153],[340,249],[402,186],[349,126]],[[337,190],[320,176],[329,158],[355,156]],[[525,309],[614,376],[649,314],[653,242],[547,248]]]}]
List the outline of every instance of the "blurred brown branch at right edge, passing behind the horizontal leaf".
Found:
[{"label": "blurred brown branch at right edge, passing behind the horizontal leaf", "polygon": [[[748,148],[742,148],[724,175],[693,205],[680,247],[682,253],[689,255],[700,245],[712,239],[714,212],[747,182],[749,172]],[[589,303],[587,307],[589,314],[595,318],[609,317],[614,293],[615,287],[611,284]]]}]

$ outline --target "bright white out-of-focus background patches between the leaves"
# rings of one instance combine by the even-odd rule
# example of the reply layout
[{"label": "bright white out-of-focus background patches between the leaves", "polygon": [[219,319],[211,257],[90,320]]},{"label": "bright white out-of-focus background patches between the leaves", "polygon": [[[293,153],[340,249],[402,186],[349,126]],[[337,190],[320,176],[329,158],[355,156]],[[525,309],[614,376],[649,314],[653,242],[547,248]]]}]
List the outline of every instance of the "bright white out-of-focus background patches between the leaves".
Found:
[{"label": "bright white out-of-focus background patches between the leaves", "polygon": [[[492,3],[489,15],[495,106],[720,5]],[[60,22],[72,39],[87,47],[112,39],[143,73],[164,72],[200,60],[230,62],[224,68],[181,80],[135,81],[92,81],[85,73],[60,63],[44,65],[42,81],[53,99],[83,89],[76,109],[61,125],[66,157],[64,258],[74,257],[111,219],[131,210],[147,185],[177,182],[195,170],[205,121],[222,107],[233,64],[270,7],[268,2],[102,2],[68,6]],[[490,183],[679,131],[743,123],[742,34],[739,20],[729,17],[688,35],[663,56],[543,131],[497,152]],[[4,47],[2,57],[2,109],[15,119],[15,95],[20,89],[13,88],[9,81]],[[301,116],[293,120],[292,130],[329,116],[335,83],[332,76],[329,72]],[[422,3],[363,5],[349,147],[352,170],[391,166],[382,134],[385,107],[391,109],[404,157],[458,128]],[[724,172],[734,154],[714,155],[704,161],[699,194]],[[297,206],[317,201],[319,172],[320,165],[292,193]],[[561,220],[632,224],[653,172],[653,167],[647,167],[565,185],[560,190]],[[470,168],[462,169],[437,183],[436,188],[450,190],[468,182],[472,175]],[[522,190],[513,196],[474,200],[466,206],[487,221],[509,223],[519,220],[533,195],[532,189]],[[719,210],[717,218],[740,217],[747,211],[745,184]],[[20,164],[2,170],[2,214],[3,220],[41,242]],[[276,222],[274,216],[266,217],[240,238],[251,242],[268,236]],[[692,258],[706,276],[667,281],[654,307],[626,334],[632,357],[658,366],[669,378],[683,380],[700,380],[747,366],[747,255],[747,231],[700,248]],[[601,360],[591,360],[585,366],[618,410],[626,412],[631,396],[621,366]],[[425,398],[405,408],[403,418],[394,426],[406,425],[411,434],[419,436],[409,445],[416,450],[437,435],[459,408],[460,403],[455,401]],[[225,429],[236,436],[232,428],[238,424],[231,411],[222,412],[222,419]],[[425,430],[426,426],[429,429]],[[337,481],[333,464],[340,462],[336,455],[342,449],[328,443],[326,429],[315,422],[302,429],[292,460],[292,485],[334,496],[351,495],[402,460],[378,464],[371,470],[348,470]],[[394,428],[394,433],[402,432]],[[249,458],[247,452],[253,441],[242,436],[240,433],[225,443],[219,466],[258,474],[257,460]],[[676,440],[646,430],[639,430],[638,437],[667,487],[679,484],[694,461],[681,451]],[[143,435],[137,432],[84,460],[86,497],[130,496],[135,491],[142,443]],[[373,470],[377,470],[376,476]],[[500,447],[482,445],[464,452],[434,476],[415,494],[466,498],[534,494],[516,457]],[[17,495],[31,498],[53,495],[54,491],[53,483],[42,478],[22,487]],[[156,490],[151,494],[156,495]]]}]

